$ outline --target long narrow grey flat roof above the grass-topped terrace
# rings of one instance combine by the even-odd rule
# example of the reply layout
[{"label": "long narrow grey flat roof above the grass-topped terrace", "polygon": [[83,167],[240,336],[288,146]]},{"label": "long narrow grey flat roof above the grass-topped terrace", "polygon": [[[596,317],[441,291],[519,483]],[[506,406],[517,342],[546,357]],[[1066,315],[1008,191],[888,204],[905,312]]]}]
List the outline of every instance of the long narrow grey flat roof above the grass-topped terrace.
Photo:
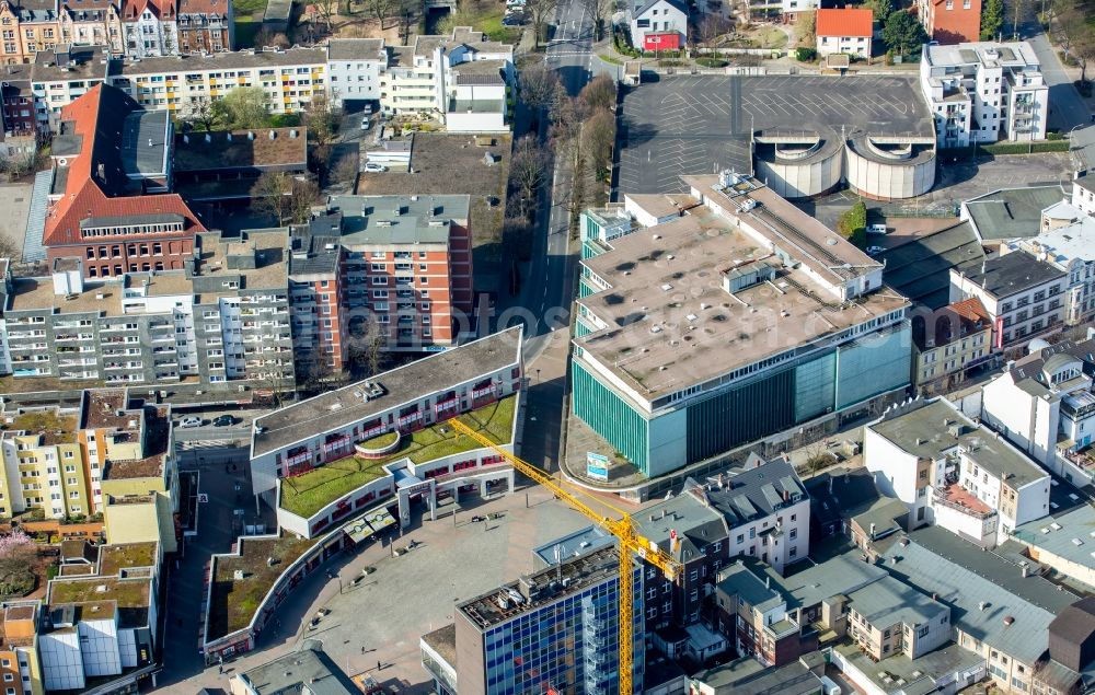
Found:
[{"label": "long narrow grey flat roof above the grass-topped terrace", "polygon": [[[520,357],[521,328],[515,326],[438,352],[370,379],[384,394],[365,401],[354,383],[307,401],[288,405],[255,419],[252,456],[261,456],[308,439],[362,421],[403,403],[413,403],[446,385],[489,374]],[[261,431],[258,431],[261,429]]]}]

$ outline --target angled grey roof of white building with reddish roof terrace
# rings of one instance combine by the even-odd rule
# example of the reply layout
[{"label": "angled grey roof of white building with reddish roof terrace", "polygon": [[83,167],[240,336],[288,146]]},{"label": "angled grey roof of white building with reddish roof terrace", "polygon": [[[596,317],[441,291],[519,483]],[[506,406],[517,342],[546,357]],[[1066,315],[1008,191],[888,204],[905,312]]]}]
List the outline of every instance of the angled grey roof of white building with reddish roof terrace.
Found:
[{"label": "angled grey roof of white building with reddish roof terrace", "polygon": [[[960,427],[963,431],[953,435],[947,422]],[[938,461],[945,452],[963,447],[966,455],[982,468],[996,477],[1006,477],[1010,487],[1019,488],[1049,475],[992,430],[975,425],[946,398],[917,401],[895,407],[867,427],[920,459]]]}]

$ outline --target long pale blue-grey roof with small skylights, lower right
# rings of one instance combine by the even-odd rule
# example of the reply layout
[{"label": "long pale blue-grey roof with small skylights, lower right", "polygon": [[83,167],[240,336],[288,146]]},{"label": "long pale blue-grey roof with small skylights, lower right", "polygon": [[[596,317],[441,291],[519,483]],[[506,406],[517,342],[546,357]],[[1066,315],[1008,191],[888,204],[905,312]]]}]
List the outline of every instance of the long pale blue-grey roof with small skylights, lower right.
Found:
[{"label": "long pale blue-grey roof with small skylights, lower right", "polygon": [[[949,605],[954,625],[1028,665],[1046,652],[1049,624],[1076,600],[937,526],[913,532],[907,545],[895,543],[884,557],[895,577]],[[1013,618],[1010,625],[1005,617]]]}]

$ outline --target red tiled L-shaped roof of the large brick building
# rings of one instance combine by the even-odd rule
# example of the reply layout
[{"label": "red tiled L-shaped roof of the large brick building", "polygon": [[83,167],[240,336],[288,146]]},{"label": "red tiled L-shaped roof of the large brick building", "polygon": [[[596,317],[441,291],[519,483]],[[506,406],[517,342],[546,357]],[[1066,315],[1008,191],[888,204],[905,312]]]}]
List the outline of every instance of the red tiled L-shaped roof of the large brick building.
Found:
[{"label": "red tiled L-shaped roof of the large brick building", "polygon": [[[81,243],[83,240],[80,235],[80,222],[90,217],[175,213],[186,219],[188,233],[205,231],[205,227],[178,195],[126,195],[117,186],[111,185],[113,181],[107,181],[116,179],[119,175],[124,176],[116,171],[118,169],[116,162],[111,163],[106,160],[110,157],[117,157],[120,123],[125,119],[126,108],[132,111],[136,106],[131,100],[128,102],[125,100],[128,97],[119,90],[96,84],[87,94],[61,108],[61,120],[73,123],[74,135],[82,138],[82,144],[80,153],[69,160],[65,192],[59,200],[49,206],[43,234],[45,246]],[[104,101],[111,102],[106,107],[110,118],[104,116],[101,124],[100,112],[104,108]],[[114,139],[115,136],[115,142],[105,141]],[[100,163],[104,163],[104,175],[96,178],[92,174]],[[104,190],[103,186],[107,186],[107,190]],[[102,238],[96,238],[100,239]]]}]

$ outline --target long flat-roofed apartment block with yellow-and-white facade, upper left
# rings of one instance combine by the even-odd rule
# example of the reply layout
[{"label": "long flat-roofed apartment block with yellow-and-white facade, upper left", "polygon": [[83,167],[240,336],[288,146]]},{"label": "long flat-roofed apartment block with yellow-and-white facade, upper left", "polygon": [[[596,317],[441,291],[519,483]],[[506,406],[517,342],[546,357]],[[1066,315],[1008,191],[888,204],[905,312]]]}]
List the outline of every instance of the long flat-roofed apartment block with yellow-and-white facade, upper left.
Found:
[{"label": "long flat-roofed apartment block with yellow-and-white facade, upper left", "polygon": [[[178,10],[181,42],[186,34],[185,7],[184,0]],[[184,42],[182,50],[194,48]],[[326,90],[326,72],[323,48],[246,49],[130,61],[112,73],[110,83],[146,108],[183,115],[206,108],[235,88],[257,86],[266,94],[272,113],[290,114],[303,111],[313,94]]]}]

